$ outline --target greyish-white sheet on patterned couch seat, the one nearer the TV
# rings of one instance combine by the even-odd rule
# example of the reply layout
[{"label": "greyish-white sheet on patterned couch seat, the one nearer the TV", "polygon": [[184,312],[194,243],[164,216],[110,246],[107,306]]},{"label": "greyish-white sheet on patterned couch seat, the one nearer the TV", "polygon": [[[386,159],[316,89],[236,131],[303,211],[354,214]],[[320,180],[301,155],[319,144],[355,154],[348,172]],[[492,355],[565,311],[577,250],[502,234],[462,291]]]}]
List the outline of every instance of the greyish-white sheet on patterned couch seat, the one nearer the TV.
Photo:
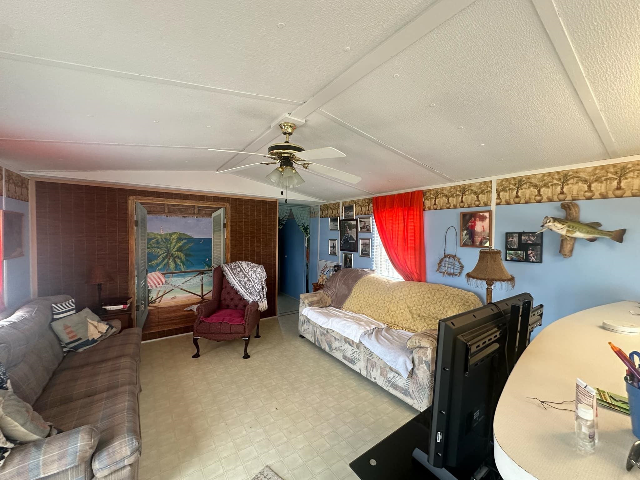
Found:
[{"label": "greyish-white sheet on patterned couch seat, the one nearer the TV", "polygon": [[363,333],[360,343],[407,378],[413,368],[413,351],[406,348],[406,342],[412,335],[413,333],[406,330],[395,330],[385,326]]}]

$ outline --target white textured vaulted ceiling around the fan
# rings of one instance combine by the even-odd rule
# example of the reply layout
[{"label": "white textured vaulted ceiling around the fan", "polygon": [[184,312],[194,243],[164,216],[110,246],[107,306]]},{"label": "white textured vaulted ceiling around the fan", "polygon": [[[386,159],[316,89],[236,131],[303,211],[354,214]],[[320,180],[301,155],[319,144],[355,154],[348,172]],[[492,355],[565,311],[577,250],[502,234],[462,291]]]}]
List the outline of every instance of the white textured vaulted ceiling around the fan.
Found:
[{"label": "white textured vaulted ceiling around the fan", "polygon": [[339,148],[345,159],[323,163],[362,177],[303,172],[299,193],[323,200],[640,153],[637,0],[0,0],[0,12],[0,160],[22,172],[253,163],[205,148],[265,151],[289,113],[306,120],[292,141]]}]

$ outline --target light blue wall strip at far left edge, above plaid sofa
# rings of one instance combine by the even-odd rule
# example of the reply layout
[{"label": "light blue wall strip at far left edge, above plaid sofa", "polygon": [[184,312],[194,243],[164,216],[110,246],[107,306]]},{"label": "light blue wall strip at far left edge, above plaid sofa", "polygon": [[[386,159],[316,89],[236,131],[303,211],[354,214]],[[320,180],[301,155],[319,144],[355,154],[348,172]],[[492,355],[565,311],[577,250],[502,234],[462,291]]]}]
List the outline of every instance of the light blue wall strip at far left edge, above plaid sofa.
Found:
[{"label": "light blue wall strip at far left edge, above plaid sofa", "polygon": [[[2,197],[0,197],[2,198]],[[24,214],[22,239],[24,256],[3,260],[4,304],[7,308],[20,305],[31,298],[31,273],[29,265],[29,202],[4,197],[4,210]]]}]

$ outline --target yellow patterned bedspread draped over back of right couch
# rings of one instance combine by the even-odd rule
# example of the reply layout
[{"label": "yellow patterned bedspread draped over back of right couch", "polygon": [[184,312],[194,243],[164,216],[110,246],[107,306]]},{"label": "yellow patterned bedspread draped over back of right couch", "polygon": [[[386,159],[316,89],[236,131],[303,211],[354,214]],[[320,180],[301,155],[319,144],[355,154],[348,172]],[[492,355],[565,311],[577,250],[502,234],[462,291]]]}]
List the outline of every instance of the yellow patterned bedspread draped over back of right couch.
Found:
[{"label": "yellow patterned bedspread draped over back of right couch", "polygon": [[342,309],[415,333],[438,328],[438,320],[481,306],[476,294],[454,287],[368,275],[358,280]]}]

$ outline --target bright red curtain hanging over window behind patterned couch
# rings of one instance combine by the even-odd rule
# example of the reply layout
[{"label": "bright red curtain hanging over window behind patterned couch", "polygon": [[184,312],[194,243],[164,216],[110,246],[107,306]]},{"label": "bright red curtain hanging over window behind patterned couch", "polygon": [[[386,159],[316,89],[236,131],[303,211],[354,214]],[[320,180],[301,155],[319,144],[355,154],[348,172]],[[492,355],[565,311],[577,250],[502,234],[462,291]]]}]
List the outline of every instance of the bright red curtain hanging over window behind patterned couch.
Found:
[{"label": "bright red curtain hanging over window behind patterned couch", "polygon": [[373,218],[397,273],[408,282],[426,282],[422,190],[374,196]]}]

